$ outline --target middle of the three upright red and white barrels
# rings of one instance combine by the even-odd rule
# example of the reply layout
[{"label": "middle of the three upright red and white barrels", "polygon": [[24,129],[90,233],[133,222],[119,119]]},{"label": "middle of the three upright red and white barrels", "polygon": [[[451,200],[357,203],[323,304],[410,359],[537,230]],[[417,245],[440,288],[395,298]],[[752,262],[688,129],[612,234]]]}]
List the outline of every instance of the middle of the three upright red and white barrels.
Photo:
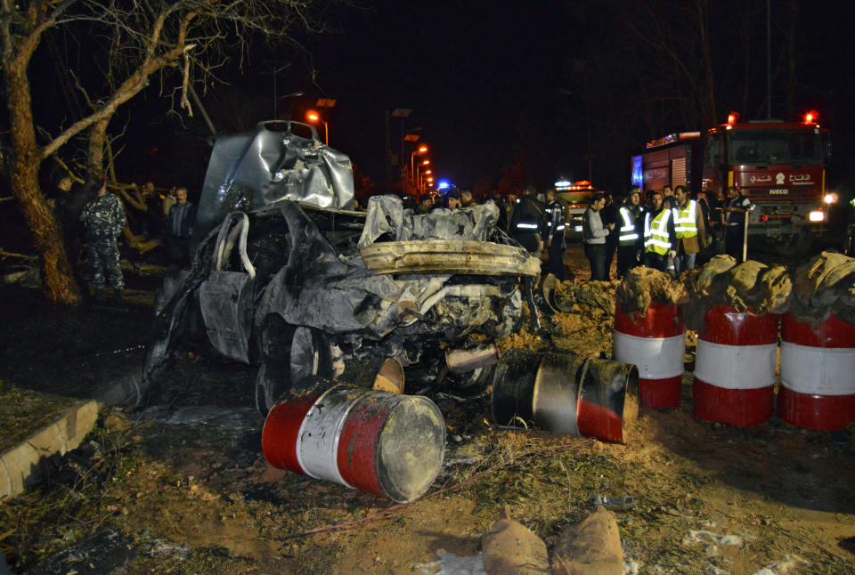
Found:
[{"label": "middle of the three upright red and white barrels", "polygon": [[697,334],[694,411],[707,421],[760,425],[772,415],[778,316],[714,305]]}]

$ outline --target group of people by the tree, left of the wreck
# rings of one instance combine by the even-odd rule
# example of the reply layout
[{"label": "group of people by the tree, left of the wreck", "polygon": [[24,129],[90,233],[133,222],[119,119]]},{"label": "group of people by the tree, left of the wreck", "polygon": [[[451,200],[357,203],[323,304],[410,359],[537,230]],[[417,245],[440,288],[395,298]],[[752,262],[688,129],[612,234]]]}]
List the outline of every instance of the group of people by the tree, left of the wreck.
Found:
[{"label": "group of people by the tree, left of the wreck", "polygon": [[[123,299],[125,281],[118,251],[118,239],[123,234],[131,247],[138,245],[139,238],[152,238],[149,245],[162,245],[169,264],[186,266],[190,260],[196,208],[188,201],[186,188],[171,190],[162,202],[151,182],[142,189],[133,186],[131,191],[133,195],[124,189],[112,193],[103,179],[74,186],[69,176],[63,175],[55,193],[49,194],[62,226],[69,260],[75,268],[85,247],[89,281],[99,302],[108,287],[115,303]],[[128,208],[134,210],[134,227],[141,235],[130,229]]]}]

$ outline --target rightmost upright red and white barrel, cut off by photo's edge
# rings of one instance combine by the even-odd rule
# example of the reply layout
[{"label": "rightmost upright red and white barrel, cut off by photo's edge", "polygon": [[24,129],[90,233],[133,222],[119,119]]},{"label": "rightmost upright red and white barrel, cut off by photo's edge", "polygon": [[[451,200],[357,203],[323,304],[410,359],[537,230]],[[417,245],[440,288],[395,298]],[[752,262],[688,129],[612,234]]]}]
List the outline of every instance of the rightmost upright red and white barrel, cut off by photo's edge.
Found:
[{"label": "rightmost upright red and white barrel, cut off by photo's edge", "polygon": [[781,339],[778,417],[826,431],[855,421],[855,326],[831,314],[812,328],[787,313]]}]

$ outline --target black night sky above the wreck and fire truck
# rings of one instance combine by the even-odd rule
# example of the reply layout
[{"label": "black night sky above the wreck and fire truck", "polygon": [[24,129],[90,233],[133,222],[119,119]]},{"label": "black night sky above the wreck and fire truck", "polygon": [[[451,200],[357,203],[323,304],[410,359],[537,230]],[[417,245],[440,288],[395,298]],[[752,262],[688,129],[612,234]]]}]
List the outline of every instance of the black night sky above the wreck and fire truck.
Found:
[{"label": "black night sky above the wreck and fire truck", "polygon": [[[614,59],[615,54],[620,57],[628,43],[639,44],[639,39],[631,40],[625,29],[629,4],[636,10],[652,6],[657,18],[659,13],[668,13],[677,33],[695,33],[681,27],[680,20],[674,24],[673,14],[682,18],[691,5],[683,0],[366,0],[362,9],[330,9],[325,18],[338,32],[301,38],[303,53],[256,50],[247,66],[232,71],[228,85],[218,85],[208,93],[206,106],[221,133],[236,131],[233,126],[247,129],[271,119],[270,70],[275,62],[290,62],[277,75],[276,92],[302,91],[306,96],[281,101],[280,115],[303,119],[305,109],[315,99],[335,99],[336,106],[328,118],[330,145],[350,156],[375,184],[382,185],[387,179],[384,113],[406,108],[412,109],[412,114],[403,120],[404,130],[421,128],[418,134],[431,148],[435,174],[460,187],[489,185],[492,189],[515,150],[520,149],[528,153],[530,183],[538,188],[550,185],[558,176],[587,179],[586,153],[591,137],[595,185],[621,189],[629,181],[629,157],[639,152],[643,142],[676,131],[711,127],[686,126],[669,117],[667,107],[657,127],[621,103],[609,107],[606,100],[611,94],[632,94],[644,81],[631,77],[632,66],[647,65],[655,71],[660,64],[652,55],[645,61],[644,50],[637,51],[641,61],[636,64],[607,60]],[[715,36],[712,61],[721,116],[718,121],[724,121],[730,109],[751,118],[765,106],[766,4],[721,0],[707,5],[709,29]],[[773,115],[786,116],[788,89],[795,94],[795,109],[818,109],[820,122],[830,128],[835,146],[829,182],[855,181],[855,138],[851,136],[855,132],[851,104],[855,3],[799,0],[771,5],[773,19],[777,19],[773,24],[773,67],[779,75],[786,71],[786,60],[779,57],[786,52],[780,37],[787,27],[794,31],[799,46],[797,82],[789,87],[783,81],[775,82]],[[797,18],[784,17],[787,6],[797,7]],[[740,34],[743,11],[753,12],[751,25],[745,27],[753,58],[749,76],[752,90],[747,100],[741,90],[739,53],[731,50]],[[640,34],[645,33],[642,28]],[[579,61],[599,66],[597,85],[575,81],[578,76],[571,69]],[[310,70],[314,70],[314,81]],[[175,117],[159,119],[163,104],[158,90],[159,85],[152,82],[147,93],[126,107],[129,121],[120,116],[114,119],[114,132],[127,121],[126,148],[118,166],[126,168],[128,178],[151,177],[159,185],[175,185],[179,180],[191,190],[199,190],[209,150],[199,114],[185,116],[180,122]],[[234,92],[231,96],[230,91]],[[220,104],[211,100],[214,96]],[[652,97],[659,97],[655,90]],[[222,100],[229,98],[232,108],[226,109]],[[662,108],[663,104],[659,105]],[[242,116],[240,122],[238,116]],[[151,120],[142,119],[147,117]],[[796,116],[786,119],[793,121]],[[607,125],[613,132],[625,125],[623,141],[604,136],[600,126]],[[401,128],[401,120],[392,118],[395,153],[401,149]],[[175,137],[165,140],[164,135],[170,134]],[[407,163],[410,150],[404,155]]]}]

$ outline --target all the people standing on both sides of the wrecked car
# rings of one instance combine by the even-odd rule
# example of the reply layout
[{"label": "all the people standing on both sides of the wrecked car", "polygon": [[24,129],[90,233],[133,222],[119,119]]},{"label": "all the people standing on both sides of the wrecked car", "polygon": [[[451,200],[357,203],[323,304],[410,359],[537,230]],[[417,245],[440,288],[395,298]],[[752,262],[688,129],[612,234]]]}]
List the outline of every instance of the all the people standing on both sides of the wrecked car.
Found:
[{"label": "all the people standing on both sides of the wrecked car", "polygon": [[[691,198],[681,185],[647,190],[644,197],[639,186],[616,197],[594,193],[582,215],[582,243],[591,279],[609,279],[615,255],[618,278],[639,265],[676,276],[694,269],[700,256],[721,252],[721,244],[723,251],[741,261],[745,214],[752,206],[737,188],[731,186],[726,193],[726,198],[711,192]],[[157,189],[152,182],[109,186],[102,179],[75,184],[62,175],[46,195],[76,270],[85,247],[96,299],[103,298],[108,286],[114,298],[122,298],[118,239],[138,255],[153,252],[163,263],[183,267],[190,263],[196,207],[188,200],[186,188]],[[535,257],[541,258],[546,250],[549,272],[565,279],[567,214],[557,190],[538,193],[528,186],[520,194],[490,199],[500,208],[497,227]],[[477,203],[471,190],[455,188],[403,200],[419,215]]]}]

